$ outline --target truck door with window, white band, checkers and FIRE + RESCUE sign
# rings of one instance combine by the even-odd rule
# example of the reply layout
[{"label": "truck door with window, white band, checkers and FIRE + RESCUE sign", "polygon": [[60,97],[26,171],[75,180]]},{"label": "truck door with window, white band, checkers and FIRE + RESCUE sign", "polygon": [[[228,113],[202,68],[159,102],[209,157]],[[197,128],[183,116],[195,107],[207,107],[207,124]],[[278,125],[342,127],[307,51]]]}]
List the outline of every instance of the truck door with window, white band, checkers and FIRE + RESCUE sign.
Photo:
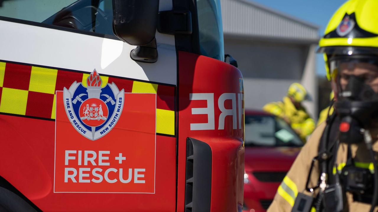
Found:
[{"label": "truck door with window, white band, checkers and FIRE + RESCUE sign", "polygon": [[0,186],[43,211],[176,209],[175,38],[134,60],[112,2],[0,1]]}]

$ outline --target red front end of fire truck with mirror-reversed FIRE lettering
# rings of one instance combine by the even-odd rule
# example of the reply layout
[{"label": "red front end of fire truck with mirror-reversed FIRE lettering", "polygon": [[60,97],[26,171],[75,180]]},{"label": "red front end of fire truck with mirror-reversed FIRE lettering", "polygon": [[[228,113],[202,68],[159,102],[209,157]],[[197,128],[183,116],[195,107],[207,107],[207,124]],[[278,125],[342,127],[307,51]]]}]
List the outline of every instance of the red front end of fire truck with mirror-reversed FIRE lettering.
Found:
[{"label": "red front end of fire truck with mirror-reversed FIRE lettering", "polygon": [[240,71],[224,62],[220,0],[174,0],[192,11],[178,49],[177,211],[242,211],[244,101]]}]

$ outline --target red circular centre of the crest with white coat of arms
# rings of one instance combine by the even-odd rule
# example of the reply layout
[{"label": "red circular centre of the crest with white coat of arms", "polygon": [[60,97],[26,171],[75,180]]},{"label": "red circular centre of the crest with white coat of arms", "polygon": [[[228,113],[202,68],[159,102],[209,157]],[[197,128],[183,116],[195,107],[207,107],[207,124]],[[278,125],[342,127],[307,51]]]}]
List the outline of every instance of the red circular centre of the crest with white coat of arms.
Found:
[{"label": "red circular centre of the crest with white coat of arms", "polygon": [[97,98],[85,100],[79,108],[80,119],[90,127],[98,127],[108,118],[108,106]]}]

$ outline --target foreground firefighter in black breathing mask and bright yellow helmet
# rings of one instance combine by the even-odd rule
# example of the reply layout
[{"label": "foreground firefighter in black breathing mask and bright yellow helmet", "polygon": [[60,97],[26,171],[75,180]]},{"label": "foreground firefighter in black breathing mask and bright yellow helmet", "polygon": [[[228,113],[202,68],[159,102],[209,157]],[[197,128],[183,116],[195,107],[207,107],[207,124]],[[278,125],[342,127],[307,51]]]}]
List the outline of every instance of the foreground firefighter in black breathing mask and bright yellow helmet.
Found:
[{"label": "foreground firefighter in black breathing mask and bright yellow helmet", "polygon": [[311,134],[268,212],[377,211],[378,1],[349,0],[319,41],[335,113]]}]

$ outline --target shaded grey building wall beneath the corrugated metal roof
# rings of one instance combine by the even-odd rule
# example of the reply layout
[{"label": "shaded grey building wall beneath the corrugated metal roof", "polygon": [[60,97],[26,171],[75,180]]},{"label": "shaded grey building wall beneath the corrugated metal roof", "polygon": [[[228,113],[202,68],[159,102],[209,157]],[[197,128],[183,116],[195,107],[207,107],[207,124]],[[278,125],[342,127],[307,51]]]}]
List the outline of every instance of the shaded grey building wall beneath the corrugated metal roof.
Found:
[{"label": "shaded grey building wall beneath the corrugated metal roof", "polygon": [[302,83],[312,102],[305,102],[309,113],[317,114],[315,46],[260,39],[236,39],[225,35],[225,53],[232,55],[243,74],[245,108],[261,109],[268,102],[280,101],[293,82]]}]

